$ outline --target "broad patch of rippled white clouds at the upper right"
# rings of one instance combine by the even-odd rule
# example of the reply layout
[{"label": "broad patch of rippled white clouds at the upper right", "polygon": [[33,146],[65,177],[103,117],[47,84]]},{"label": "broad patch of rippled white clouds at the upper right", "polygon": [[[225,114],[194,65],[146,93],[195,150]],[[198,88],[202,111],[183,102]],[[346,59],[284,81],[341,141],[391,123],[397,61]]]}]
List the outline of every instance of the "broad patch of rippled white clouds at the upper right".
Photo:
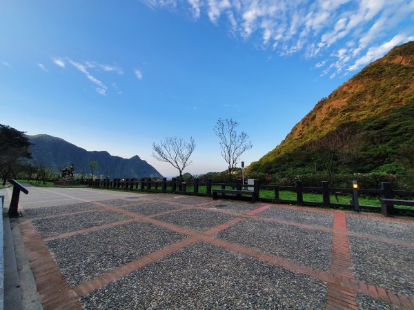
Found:
[{"label": "broad patch of rippled white clouds at the upper right", "polygon": [[387,42],[404,43],[414,36],[413,27],[404,28],[412,23],[413,0],[142,1],[151,8],[188,10],[195,19],[204,14],[246,42],[281,56],[316,59],[315,67],[325,67],[324,74],[331,70],[331,77],[382,55],[392,48]]}]

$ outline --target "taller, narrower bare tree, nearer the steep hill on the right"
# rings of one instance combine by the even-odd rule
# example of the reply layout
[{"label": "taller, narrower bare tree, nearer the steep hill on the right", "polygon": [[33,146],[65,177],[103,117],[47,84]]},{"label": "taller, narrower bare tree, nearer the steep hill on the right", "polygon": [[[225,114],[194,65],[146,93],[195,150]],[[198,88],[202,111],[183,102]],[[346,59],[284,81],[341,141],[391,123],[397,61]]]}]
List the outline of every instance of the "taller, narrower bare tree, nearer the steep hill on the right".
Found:
[{"label": "taller, narrower bare tree, nearer the steep hill on the right", "polygon": [[221,156],[228,163],[229,180],[233,176],[240,156],[253,147],[253,144],[248,141],[248,134],[246,132],[237,134],[236,127],[238,125],[239,123],[233,121],[231,118],[226,118],[225,120],[219,118],[213,128],[216,136],[220,138]]}]

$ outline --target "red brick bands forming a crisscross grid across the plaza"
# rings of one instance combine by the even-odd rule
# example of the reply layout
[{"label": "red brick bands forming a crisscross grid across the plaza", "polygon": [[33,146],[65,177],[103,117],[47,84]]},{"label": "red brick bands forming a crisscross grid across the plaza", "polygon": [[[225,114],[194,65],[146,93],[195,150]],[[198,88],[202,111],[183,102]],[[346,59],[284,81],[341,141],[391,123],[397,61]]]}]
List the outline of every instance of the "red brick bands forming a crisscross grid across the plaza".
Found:
[{"label": "red brick bands forming a crisscross grid across the plaza", "polygon": [[[45,189],[46,190],[46,189]],[[52,190],[48,189],[49,192],[53,192]],[[63,194],[62,194],[63,195]],[[63,195],[69,198],[75,198],[70,195]],[[77,198],[79,199],[79,198]],[[82,200],[82,199],[79,199]],[[119,207],[112,207],[110,205],[105,205],[99,202],[93,202],[95,205],[103,208],[108,209],[111,211],[115,211],[117,213],[125,214],[132,218],[131,220],[124,220],[119,221],[117,223],[111,223],[107,225],[101,225],[99,227],[92,227],[89,229],[82,229],[79,231],[73,231],[67,234],[61,234],[59,236],[52,236],[49,238],[41,239],[37,231],[32,226],[30,220],[19,220],[19,229],[21,230],[21,234],[23,236],[23,242],[25,243],[26,249],[28,250],[28,256],[30,260],[30,265],[32,267],[32,271],[34,274],[34,278],[37,282],[37,288],[39,290],[39,295],[41,296],[41,302],[45,309],[81,309],[81,304],[77,299],[77,296],[83,296],[86,293],[90,293],[95,289],[99,289],[104,285],[108,285],[108,283],[118,280],[128,273],[140,269],[149,263],[160,260],[188,245],[191,245],[199,240],[203,240],[205,242],[210,242],[213,245],[217,245],[219,247],[224,247],[226,249],[230,249],[232,251],[237,251],[241,254],[246,254],[248,256],[253,256],[259,260],[264,260],[270,264],[277,265],[280,267],[284,267],[286,269],[290,269],[292,271],[296,271],[299,273],[304,273],[308,276],[312,276],[313,278],[317,278],[328,284],[328,290],[326,293],[326,309],[357,309],[357,302],[356,302],[356,293],[364,293],[368,296],[373,298],[379,298],[380,300],[384,300],[385,302],[391,302],[398,307],[404,307],[406,309],[414,309],[414,296],[403,296],[402,294],[395,293],[393,291],[388,291],[386,289],[382,289],[381,287],[375,287],[373,285],[367,285],[362,281],[355,280],[353,278],[352,273],[352,262],[351,262],[351,253],[349,249],[349,242],[348,236],[358,236],[360,238],[368,238],[371,240],[381,240],[383,242],[393,242],[394,244],[414,247],[413,243],[410,242],[397,242],[396,240],[390,240],[385,238],[380,238],[376,236],[366,236],[363,234],[356,234],[353,232],[349,232],[346,229],[346,216],[358,216],[358,217],[367,217],[367,218],[375,218],[380,220],[390,220],[395,221],[395,223],[413,223],[411,221],[406,220],[399,220],[395,218],[382,218],[381,216],[362,216],[362,215],[354,215],[350,213],[346,213],[344,211],[331,211],[326,209],[311,209],[311,208],[304,208],[304,207],[292,207],[292,206],[280,206],[280,205],[263,205],[257,204],[257,209],[248,212],[247,214],[238,214],[237,212],[228,211],[228,210],[220,210],[220,209],[211,209],[205,206],[216,204],[219,200],[216,200],[212,203],[201,203],[196,206],[189,206],[180,204],[175,201],[166,201],[166,203],[171,203],[174,205],[179,205],[181,208],[163,212],[163,214],[170,214],[176,211],[181,211],[182,209],[191,209],[191,208],[199,208],[199,209],[206,209],[208,211],[218,211],[221,213],[233,214],[236,218],[229,220],[228,222],[217,225],[217,227],[213,227],[204,233],[199,233],[197,231],[192,231],[190,229],[185,229],[182,227],[178,227],[176,225],[172,225],[169,223],[161,222],[159,220],[155,220],[153,216],[143,216],[128,210],[119,209]],[[140,202],[141,203],[141,202]],[[329,229],[326,227],[315,227],[312,225],[304,225],[299,223],[290,223],[287,221],[277,220],[277,219],[268,219],[268,218],[261,218],[259,216],[260,212],[268,209],[270,207],[285,207],[290,209],[297,209],[297,210],[306,210],[306,211],[313,211],[313,212],[320,212],[320,213],[333,213],[334,214],[334,225],[333,229]],[[157,214],[156,216],[158,216]],[[222,229],[226,229],[236,223],[239,223],[246,218],[255,218],[258,220],[270,220],[275,221],[278,223],[284,223],[286,225],[293,225],[293,226],[300,226],[306,227],[309,229],[318,229],[323,231],[331,231],[333,232],[333,246],[332,246],[332,254],[331,254],[331,269],[329,272],[322,271],[319,269],[314,269],[309,266],[301,265],[297,262],[293,262],[291,260],[287,260],[285,258],[280,258],[277,256],[272,256],[270,254],[263,253],[261,251],[257,251],[255,249],[251,249],[248,247],[244,247],[241,245],[237,245],[232,242],[228,242],[225,240],[220,240],[219,238],[215,238],[213,235],[217,232],[221,231]],[[72,288],[68,285],[68,282],[63,277],[59,268],[57,267],[55,260],[53,260],[52,256],[48,252],[46,248],[45,241],[47,240],[54,240],[58,238],[65,238],[68,236],[73,236],[75,234],[84,234],[88,231],[95,231],[99,229],[104,229],[108,227],[115,227],[117,225],[122,225],[124,223],[129,223],[134,220],[144,220],[148,223],[152,223],[155,225],[159,225],[161,227],[165,227],[167,229],[171,229],[173,231],[178,231],[181,234],[186,234],[189,237],[177,242],[173,245],[169,245],[164,247],[163,249],[159,249],[158,251],[152,252],[143,258],[139,258],[138,260],[134,260],[124,266],[112,269],[108,273],[104,273],[101,276],[98,276],[95,279],[92,279],[87,282],[83,282],[76,287]]]}]

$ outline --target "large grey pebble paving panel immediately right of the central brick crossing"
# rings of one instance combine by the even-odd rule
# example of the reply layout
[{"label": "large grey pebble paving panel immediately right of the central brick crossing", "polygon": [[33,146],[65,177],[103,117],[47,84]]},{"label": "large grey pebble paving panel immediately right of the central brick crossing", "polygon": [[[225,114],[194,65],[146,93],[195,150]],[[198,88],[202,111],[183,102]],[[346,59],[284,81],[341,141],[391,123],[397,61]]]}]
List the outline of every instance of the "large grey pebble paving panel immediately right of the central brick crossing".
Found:
[{"label": "large grey pebble paving panel immediately right of the central brick crossing", "polygon": [[330,232],[248,219],[217,237],[317,269],[328,271],[331,263]]}]

